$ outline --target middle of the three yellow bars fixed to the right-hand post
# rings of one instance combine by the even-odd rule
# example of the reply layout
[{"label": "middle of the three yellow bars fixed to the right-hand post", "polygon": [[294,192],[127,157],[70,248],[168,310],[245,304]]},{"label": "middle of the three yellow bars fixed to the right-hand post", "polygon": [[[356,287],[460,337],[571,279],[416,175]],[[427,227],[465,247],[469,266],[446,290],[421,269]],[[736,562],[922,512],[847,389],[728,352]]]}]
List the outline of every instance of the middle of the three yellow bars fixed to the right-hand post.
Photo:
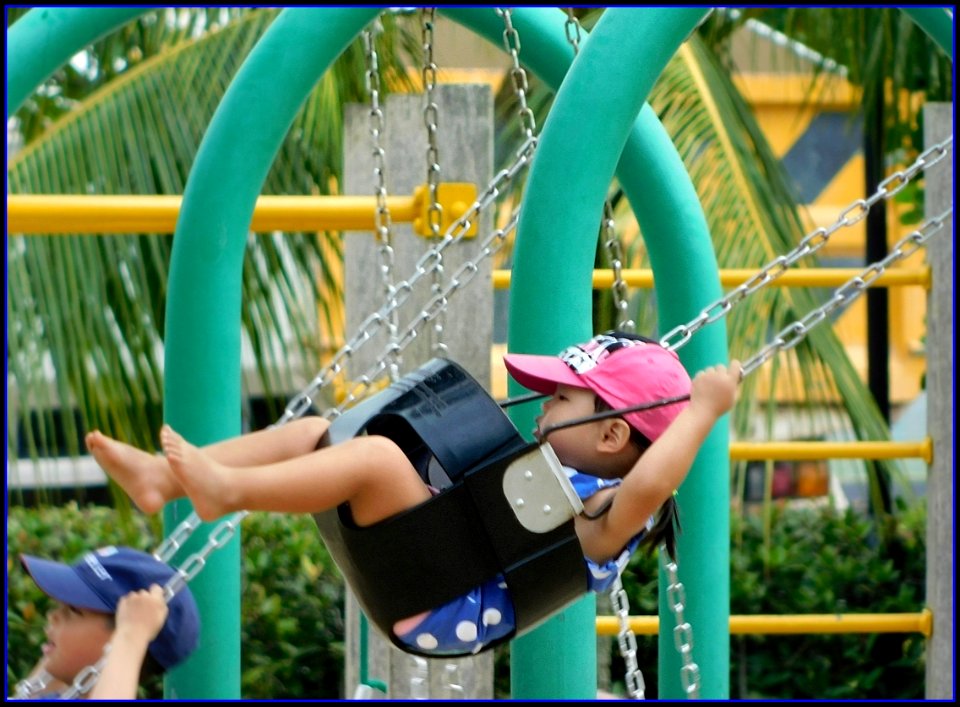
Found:
[{"label": "middle of the three yellow bars fixed to the right-hand post", "polygon": [[731,442],[731,459],[923,459],[933,461],[933,440],[919,442]]}]

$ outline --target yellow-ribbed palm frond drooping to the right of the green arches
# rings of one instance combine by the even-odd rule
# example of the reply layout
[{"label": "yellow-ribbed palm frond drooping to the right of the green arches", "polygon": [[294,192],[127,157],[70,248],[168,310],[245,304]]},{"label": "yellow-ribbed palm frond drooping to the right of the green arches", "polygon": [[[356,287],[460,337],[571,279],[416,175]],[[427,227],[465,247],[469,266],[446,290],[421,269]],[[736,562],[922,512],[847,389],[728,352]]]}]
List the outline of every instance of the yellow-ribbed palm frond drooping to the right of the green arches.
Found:
[{"label": "yellow-ribbed palm frond drooping to the right of the green arches", "polygon": [[[681,48],[651,105],[675,136],[701,195],[721,267],[756,269],[800,242],[804,234],[789,181],[742,96],[703,43],[694,38]],[[801,264],[814,266],[816,261],[808,257]],[[767,287],[754,293],[729,317],[731,357],[749,358],[820,304],[804,288]],[[829,326],[811,329],[799,346],[778,356],[783,360],[758,373],[768,379],[768,389],[779,386],[787,399],[819,418],[806,423],[810,436],[888,437],[872,396]],[[751,438],[759,432],[750,427],[759,381],[744,385],[735,419],[739,435]],[[832,412],[837,403],[847,422]],[[889,467],[896,469],[895,464]]]}]

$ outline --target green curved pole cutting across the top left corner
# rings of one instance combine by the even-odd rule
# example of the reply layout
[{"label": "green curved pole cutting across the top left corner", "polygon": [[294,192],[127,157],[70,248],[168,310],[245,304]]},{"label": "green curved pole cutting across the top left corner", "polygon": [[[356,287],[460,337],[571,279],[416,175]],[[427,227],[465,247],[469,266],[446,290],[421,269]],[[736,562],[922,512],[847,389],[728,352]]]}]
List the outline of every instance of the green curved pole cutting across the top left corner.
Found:
[{"label": "green curved pole cutting across the top left corner", "polygon": [[36,7],[7,30],[7,118],[88,44],[149,7]]}]

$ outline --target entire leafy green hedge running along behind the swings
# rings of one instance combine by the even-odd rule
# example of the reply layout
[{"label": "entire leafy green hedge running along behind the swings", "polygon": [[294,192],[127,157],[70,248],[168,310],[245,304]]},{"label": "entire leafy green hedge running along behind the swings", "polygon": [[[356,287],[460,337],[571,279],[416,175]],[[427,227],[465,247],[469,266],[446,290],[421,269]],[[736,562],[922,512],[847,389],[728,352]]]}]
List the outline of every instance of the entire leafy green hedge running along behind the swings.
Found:
[{"label": "entire leafy green hedge running along behind the swings", "polygon": [[[731,613],[899,613],[923,608],[922,515],[903,517],[879,547],[871,523],[852,513],[777,510],[764,542],[758,517],[734,518]],[[159,528],[142,516],[121,521],[109,508],[12,507],[7,518],[7,677],[11,685],[40,655],[46,597],[20,570],[26,552],[72,560],[85,550],[125,544],[151,550]],[[243,522],[241,694],[246,699],[343,695],[343,584],[308,517],[255,513]],[[681,558],[682,559],[682,558]],[[633,613],[656,612],[657,564],[635,556],[624,583]],[[697,597],[687,597],[688,602]],[[601,602],[601,611],[603,604]],[[696,632],[694,627],[694,641]],[[638,636],[638,660],[655,698],[656,637]],[[614,639],[611,680],[623,692]],[[703,648],[702,646],[700,647]],[[918,699],[923,697],[919,634],[734,636],[734,699]],[[509,696],[509,649],[498,649],[496,695]],[[159,683],[145,697],[162,695]]]}]

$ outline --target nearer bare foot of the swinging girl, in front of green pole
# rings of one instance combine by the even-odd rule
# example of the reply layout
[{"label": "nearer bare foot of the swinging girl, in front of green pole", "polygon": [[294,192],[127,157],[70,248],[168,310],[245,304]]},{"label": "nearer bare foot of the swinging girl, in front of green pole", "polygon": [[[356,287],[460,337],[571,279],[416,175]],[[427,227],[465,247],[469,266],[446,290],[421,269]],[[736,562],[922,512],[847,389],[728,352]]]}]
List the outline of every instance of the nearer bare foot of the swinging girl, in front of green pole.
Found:
[{"label": "nearer bare foot of the swinging girl, in front of green pole", "polygon": [[174,432],[170,425],[164,425],[160,430],[160,444],[173,475],[193,502],[193,509],[200,518],[216,520],[236,510],[230,505],[227,469]]}]

